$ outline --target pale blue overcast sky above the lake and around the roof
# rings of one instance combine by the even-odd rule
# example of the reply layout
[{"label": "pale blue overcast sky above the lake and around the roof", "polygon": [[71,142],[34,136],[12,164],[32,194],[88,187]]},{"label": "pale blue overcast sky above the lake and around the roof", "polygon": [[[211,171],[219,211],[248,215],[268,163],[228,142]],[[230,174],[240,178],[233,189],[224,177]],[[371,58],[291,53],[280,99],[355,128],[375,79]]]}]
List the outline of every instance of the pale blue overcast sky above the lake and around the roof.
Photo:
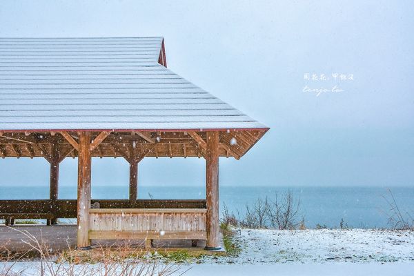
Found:
[{"label": "pale blue overcast sky above the lake and around the roof", "polygon": [[[220,159],[221,185],[402,186],[414,184],[413,7],[1,1],[0,37],[163,36],[168,68],[270,127],[239,161]],[[317,96],[306,86],[330,91]],[[197,158],[144,159],[139,185],[203,185],[204,166]],[[47,185],[48,164],[0,159],[0,176],[1,185]],[[76,177],[76,160],[63,161],[61,185]],[[94,159],[92,185],[108,184],[128,185],[126,161]]]}]

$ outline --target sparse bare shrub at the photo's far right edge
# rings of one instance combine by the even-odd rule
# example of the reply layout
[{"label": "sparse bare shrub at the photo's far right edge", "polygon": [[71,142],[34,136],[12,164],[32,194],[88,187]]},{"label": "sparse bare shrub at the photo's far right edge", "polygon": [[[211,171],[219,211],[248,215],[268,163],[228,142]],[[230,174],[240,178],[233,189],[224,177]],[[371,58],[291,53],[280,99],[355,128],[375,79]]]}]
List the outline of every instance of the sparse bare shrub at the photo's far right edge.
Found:
[{"label": "sparse bare shrub at the photo's far right edge", "polygon": [[384,211],[388,217],[388,225],[393,230],[414,230],[414,218],[408,211],[402,212],[395,201],[395,197],[388,188],[388,197],[383,196],[389,206],[388,211]]}]

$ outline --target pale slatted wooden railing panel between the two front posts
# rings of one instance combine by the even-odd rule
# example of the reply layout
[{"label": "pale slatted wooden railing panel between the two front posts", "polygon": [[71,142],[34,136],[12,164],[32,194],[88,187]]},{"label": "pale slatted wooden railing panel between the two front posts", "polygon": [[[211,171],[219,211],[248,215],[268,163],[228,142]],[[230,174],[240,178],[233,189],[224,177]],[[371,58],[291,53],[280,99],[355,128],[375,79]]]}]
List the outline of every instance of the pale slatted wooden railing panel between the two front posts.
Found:
[{"label": "pale slatted wooden railing panel between the two front posts", "polygon": [[99,208],[89,213],[89,239],[206,239],[205,208]]}]

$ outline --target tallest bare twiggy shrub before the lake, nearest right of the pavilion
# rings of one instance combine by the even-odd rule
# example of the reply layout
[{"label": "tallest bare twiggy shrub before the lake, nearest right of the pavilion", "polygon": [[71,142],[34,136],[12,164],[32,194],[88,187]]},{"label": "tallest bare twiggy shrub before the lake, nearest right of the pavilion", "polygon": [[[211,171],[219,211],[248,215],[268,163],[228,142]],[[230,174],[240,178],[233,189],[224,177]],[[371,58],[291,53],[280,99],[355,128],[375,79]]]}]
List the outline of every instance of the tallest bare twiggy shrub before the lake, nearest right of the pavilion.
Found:
[{"label": "tallest bare twiggy shrub before the lake, nearest right of the pavilion", "polygon": [[284,193],[280,200],[275,194],[275,199],[270,201],[270,207],[267,210],[270,226],[279,230],[297,228],[300,224],[300,204],[300,199],[295,199],[290,190]]}]

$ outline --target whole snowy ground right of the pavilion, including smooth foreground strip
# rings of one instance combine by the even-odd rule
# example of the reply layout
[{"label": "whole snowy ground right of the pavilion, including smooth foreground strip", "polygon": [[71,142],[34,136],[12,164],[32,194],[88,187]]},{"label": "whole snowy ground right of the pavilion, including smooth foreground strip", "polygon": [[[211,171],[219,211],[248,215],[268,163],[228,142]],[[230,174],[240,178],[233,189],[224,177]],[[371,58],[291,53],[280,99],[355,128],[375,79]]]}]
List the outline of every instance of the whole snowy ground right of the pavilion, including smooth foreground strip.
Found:
[{"label": "whole snowy ground right of the pavilion, including smooth foreground strip", "polygon": [[242,229],[236,239],[238,256],[192,259],[184,275],[414,275],[414,231]]}]

